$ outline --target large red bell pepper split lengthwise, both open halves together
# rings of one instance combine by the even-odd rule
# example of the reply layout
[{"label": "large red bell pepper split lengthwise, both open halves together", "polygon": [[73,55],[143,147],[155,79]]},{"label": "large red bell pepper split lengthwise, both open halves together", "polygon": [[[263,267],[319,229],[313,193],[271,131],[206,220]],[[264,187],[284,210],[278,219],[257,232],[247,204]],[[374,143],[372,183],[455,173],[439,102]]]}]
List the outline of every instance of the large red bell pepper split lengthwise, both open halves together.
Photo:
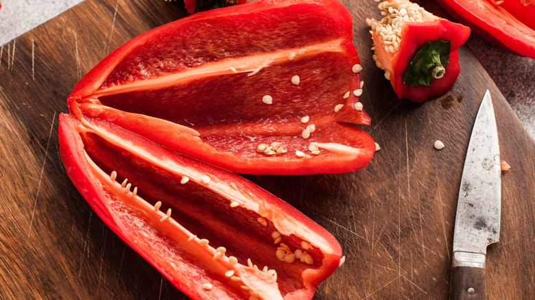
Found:
[{"label": "large red bell pepper split lengthwise, both open halves together", "polygon": [[311,299],[340,245],[219,167],[302,174],[367,164],[375,143],[345,124],[370,122],[355,107],[352,40],[351,16],[335,0],[259,1],[142,34],[69,96],[59,136],[67,173],[189,297]]}]

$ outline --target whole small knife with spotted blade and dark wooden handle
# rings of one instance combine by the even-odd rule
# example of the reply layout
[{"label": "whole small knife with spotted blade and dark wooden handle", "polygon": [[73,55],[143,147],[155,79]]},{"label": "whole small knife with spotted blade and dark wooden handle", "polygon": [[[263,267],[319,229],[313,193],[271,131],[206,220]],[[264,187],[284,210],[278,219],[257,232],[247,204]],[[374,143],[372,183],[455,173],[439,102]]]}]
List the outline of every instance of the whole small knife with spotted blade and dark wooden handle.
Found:
[{"label": "whole small knife with spotted blade and dark wooden handle", "polygon": [[501,166],[498,132],[488,90],[479,106],[462,170],[450,299],[485,299],[487,246],[499,240]]}]

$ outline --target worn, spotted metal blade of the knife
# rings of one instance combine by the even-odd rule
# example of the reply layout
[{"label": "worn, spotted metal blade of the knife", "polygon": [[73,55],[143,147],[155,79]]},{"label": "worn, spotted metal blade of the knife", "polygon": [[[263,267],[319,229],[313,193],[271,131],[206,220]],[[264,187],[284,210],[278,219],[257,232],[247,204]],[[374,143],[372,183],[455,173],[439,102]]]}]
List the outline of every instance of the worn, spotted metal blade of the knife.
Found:
[{"label": "worn, spotted metal blade of the knife", "polygon": [[477,112],[468,152],[464,160],[453,253],[479,253],[483,259],[487,246],[500,234],[501,166],[496,118],[490,93]]}]

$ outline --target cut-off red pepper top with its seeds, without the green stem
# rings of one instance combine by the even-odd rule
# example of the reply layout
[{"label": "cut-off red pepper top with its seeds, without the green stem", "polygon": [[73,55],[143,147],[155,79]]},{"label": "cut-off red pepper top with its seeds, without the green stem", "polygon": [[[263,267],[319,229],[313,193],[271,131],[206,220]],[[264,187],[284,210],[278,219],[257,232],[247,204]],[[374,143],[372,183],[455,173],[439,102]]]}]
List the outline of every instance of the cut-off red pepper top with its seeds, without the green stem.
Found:
[{"label": "cut-off red pepper top with its seeds, without the green stem", "polygon": [[[452,23],[444,18],[439,18],[433,14],[423,10],[418,5],[405,0],[390,0],[379,4],[384,12],[388,12],[388,8],[392,8],[398,12],[398,16],[409,16],[408,8],[411,8],[412,13],[418,12],[415,15],[403,21],[395,21],[401,25],[395,27],[399,32],[390,30],[392,27],[380,25],[381,21],[371,20],[372,38],[375,45],[375,56],[377,66],[385,69],[385,77],[390,79],[392,87],[399,99],[406,98],[415,102],[423,102],[431,97],[436,97],[447,92],[455,83],[457,76],[460,73],[460,65],[458,61],[457,49],[468,39],[470,29],[463,25]],[[403,16],[399,14],[399,10],[404,10]],[[383,21],[389,18],[395,18],[392,12],[388,12]],[[412,20],[411,20],[412,18]],[[416,19],[415,19],[416,18]],[[414,20],[414,21],[413,21]],[[394,23],[395,24],[395,23]],[[377,28],[383,28],[385,32],[381,34],[377,32]],[[380,31],[380,30],[379,30]],[[394,41],[385,40],[383,36],[394,36]],[[404,83],[407,68],[414,60],[416,53],[423,49],[429,42],[433,41],[451,42],[449,49],[449,61],[447,66],[443,69],[441,77],[431,79],[429,86],[416,85],[411,86]],[[394,45],[396,44],[397,45]],[[385,49],[388,47],[388,51]],[[397,47],[397,49],[395,49]]]}]

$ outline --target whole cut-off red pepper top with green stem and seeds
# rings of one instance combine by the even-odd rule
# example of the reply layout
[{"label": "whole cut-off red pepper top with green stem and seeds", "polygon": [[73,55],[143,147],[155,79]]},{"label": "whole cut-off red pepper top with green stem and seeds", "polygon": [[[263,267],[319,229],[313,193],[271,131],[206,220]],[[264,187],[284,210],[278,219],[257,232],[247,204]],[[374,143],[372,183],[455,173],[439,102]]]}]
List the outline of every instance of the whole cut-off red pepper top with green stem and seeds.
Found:
[{"label": "whole cut-off red pepper top with green stem and seeds", "polygon": [[423,102],[447,92],[460,73],[457,49],[470,29],[406,0],[379,3],[381,21],[368,19],[377,66],[399,99]]}]

